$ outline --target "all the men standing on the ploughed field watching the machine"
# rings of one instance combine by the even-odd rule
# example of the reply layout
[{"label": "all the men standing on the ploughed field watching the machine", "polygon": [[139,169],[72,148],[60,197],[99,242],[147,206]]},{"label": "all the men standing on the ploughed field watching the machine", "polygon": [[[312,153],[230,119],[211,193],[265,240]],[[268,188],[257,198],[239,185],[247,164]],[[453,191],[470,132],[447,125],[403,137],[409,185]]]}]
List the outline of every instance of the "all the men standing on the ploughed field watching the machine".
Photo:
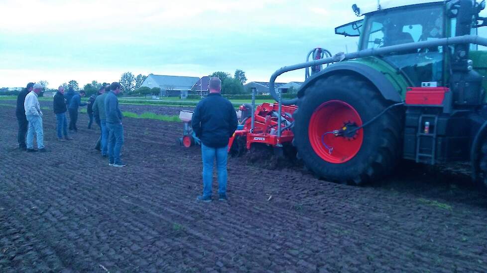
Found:
[{"label": "all the men standing on the ploughed field watching the machine", "polygon": [[[237,129],[237,114],[232,103],[221,96],[222,81],[217,77],[210,78],[208,84],[210,93],[201,100],[195,108],[191,125],[197,137],[201,140],[201,155],[203,160],[203,195],[197,201],[212,201],[213,164],[216,161],[218,171],[219,200],[227,201],[227,155],[229,138]],[[64,87],[59,86],[54,96],[53,109],[57,119],[57,136],[60,141],[72,139],[67,132],[66,112],[70,115],[69,129],[77,131],[76,121],[78,107],[88,105],[88,115],[91,127],[93,118],[100,126],[100,137],[96,149],[103,157],[109,157],[109,165],[124,167],[120,159],[123,144],[122,112],[119,108],[117,95],[121,92],[121,85],[114,82],[103,85],[96,96],[90,97],[88,103],[81,102],[79,94],[70,91],[64,93]],[[21,149],[35,151],[33,136],[37,136],[38,151],[45,151],[42,130],[42,111],[39,107],[37,95],[42,86],[29,83],[27,88],[17,97],[18,144]],[[28,130],[26,129],[28,128]],[[27,134],[27,141],[25,135]]]}]

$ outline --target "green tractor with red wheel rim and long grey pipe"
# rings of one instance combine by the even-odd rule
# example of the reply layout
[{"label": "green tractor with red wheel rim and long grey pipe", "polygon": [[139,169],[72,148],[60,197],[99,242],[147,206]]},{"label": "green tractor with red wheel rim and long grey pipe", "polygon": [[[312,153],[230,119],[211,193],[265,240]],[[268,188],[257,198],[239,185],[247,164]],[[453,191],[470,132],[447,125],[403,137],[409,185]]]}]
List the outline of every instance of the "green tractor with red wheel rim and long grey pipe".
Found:
[{"label": "green tractor with red wheel rim and long grey pipe", "polygon": [[[363,19],[335,33],[360,37],[358,52],[317,54],[277,70],[269,89],[281,104],[298,106],[293,144],[308,169],[361,185],[394,171],[401,158],[471,161],[475,181],[486,184],[487,52],[478,46],[487,39],[477,35],[487,25],[484,8],[475,0],[389,1],[366,12],[353,5]],[[281,100],[276,77],[300,68],[311,75],[297,98]]]}]

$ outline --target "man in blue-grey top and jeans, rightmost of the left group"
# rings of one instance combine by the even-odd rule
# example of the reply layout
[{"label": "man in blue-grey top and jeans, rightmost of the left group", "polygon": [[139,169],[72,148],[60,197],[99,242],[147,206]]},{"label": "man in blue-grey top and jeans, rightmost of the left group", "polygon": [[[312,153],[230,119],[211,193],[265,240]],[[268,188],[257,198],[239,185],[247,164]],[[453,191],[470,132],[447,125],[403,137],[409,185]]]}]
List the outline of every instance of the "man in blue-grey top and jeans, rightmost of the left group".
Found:
[{"label": "man in blue-grey top and jeans, rightmost of the left group", "polygon": [[122,126],[122,112],[119,108],[119,100],[117,95],[120,93],[120,83],[114,82],[110,85],[111,91],[107,94],[104,100],[105,114],[108,136],[108,156],[109,165],[114,167],[125,167],[126,165],[120,160],[120,150],[123,144],[123,126]]}]

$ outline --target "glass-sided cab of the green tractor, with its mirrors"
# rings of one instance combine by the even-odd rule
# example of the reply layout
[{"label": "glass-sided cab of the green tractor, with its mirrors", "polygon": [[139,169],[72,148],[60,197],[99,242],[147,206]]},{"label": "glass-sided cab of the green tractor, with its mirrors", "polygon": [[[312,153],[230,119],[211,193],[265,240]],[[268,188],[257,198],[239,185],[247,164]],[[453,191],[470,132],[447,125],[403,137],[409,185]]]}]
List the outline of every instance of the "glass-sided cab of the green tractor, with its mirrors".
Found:
[{"label": "glass-sided cab of the green tractor, with its mirrors", "polygon": [[[410,2],[409,5],[398,6]],[[360,36],[358,50],[377,49],[406,43],[431,41],[456,35],[456,1],[388,1],[379,3],[375,10],[361,10],[353,6],[355,13],[364,19],[335,28],[344,36]],[[478,11],[485,3],[475,5]],[[472,19],[466,34],[477,34],[476,18]],[[461,31],[465,35],[465,30]],[[476,50],[475,45],[471,50]],[[390,53],[377,58],[399,69],[410,86],[445,86],[449,80],[448,62],[454,47],[429,47],[406,52]]]}]

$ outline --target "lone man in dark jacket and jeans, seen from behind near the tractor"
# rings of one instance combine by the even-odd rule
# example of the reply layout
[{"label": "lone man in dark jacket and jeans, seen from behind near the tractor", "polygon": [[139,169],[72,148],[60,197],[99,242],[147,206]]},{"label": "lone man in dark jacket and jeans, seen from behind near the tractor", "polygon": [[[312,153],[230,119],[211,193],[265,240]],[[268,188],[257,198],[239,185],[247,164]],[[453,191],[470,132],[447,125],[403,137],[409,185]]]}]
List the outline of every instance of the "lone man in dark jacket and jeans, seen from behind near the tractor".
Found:
[{"label": "lone man in dark jacket and jeans, seen from behind near the tractor", "polygon": [[222,81],[210,78],[210,94],[201,100],[193,113],[191,126],[201,139],[203,159],[203,195],[197,201],[212,201],[213,161],[217,161],[218,194],[227,201],[228,140],[237,130],[237,114],[232,103],[220,95]]}]

